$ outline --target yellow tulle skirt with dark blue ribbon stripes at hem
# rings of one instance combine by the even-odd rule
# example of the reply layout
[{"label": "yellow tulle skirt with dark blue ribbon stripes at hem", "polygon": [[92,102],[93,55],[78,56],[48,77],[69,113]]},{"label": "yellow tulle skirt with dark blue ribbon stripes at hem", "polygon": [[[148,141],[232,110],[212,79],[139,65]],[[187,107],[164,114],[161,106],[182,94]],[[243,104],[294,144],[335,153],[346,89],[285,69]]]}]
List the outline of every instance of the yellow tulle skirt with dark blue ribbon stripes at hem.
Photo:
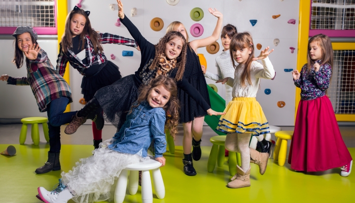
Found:
[{"label": "yellow tulle skirt with dark blue ribbon stripes at hem", "polygon": [[269,123],[255,97],[233,97],[224,110],[217,130],[225,133],[252,132],[253,136],[269,133]]}]

